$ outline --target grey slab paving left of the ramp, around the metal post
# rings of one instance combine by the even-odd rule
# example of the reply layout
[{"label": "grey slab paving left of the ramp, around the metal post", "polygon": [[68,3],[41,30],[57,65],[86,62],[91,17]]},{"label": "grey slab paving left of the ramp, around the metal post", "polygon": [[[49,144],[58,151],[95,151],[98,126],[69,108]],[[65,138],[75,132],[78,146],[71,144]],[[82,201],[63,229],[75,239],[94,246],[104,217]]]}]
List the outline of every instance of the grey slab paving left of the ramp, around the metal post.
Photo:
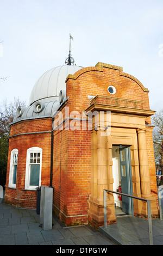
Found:
[{"label": "grey slab paving left of the ramp, around the metal post", "polygon": [[43,230],[39,218],[36,210],[18,209],[0,198],[0,245],[116,245],[89,225],[67,228],[55,217],[53,228]]}]

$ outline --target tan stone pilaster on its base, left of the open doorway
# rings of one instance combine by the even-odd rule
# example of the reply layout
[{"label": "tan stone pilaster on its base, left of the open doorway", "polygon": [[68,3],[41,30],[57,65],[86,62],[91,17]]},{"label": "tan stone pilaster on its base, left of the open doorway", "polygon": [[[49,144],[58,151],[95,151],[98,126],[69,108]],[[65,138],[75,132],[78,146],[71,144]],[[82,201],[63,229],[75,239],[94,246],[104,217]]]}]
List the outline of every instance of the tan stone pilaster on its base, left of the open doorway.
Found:
[{"label": "tan stone pilaster on its base, left of the open doorway", "polygon": [[[97,227],[104,223],[103,191],[104,189],[108,190],[108,184],[110,181],[113,182],[111,164],[112,156],[110,149],[108,149],[105,126],[101,123],[99,130],[92,131],[92,191],[89,199],[88,211],[89,222],[93,223],[94,226],[96,223]],[[108,163],[111,165],[108,166]],[[109,197],[107,197],[107,210],[108,223],[115,222],[114,202],[110,200]]]}]

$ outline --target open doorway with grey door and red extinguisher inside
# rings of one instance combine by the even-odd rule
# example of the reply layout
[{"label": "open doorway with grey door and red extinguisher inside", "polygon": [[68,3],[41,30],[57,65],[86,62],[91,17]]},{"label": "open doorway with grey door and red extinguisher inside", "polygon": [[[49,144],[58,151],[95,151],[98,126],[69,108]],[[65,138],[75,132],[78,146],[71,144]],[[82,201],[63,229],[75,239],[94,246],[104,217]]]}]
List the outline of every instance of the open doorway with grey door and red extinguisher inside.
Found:
[{"label": "open doorway with grey door and red extinguisher inside", "polygon": [[[133,194],[129,146],[113,145],[112,162],[113,190],[124,194]],[[133,215],[133,199],[114,193],[114,200],[116,216]]]}]

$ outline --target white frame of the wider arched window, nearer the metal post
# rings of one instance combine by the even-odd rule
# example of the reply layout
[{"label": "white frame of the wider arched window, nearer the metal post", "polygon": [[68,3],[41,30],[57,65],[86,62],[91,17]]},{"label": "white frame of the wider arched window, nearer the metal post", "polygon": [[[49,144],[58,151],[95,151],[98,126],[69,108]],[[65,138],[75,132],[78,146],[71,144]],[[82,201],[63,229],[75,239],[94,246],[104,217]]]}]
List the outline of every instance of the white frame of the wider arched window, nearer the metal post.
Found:
[{"label": "white frame of the wider arched window, nearer the metal post", "polygon": [[[27,150],[27,160],[26,160],[26,180],[25,180],[25,189],[26,190],[35,190],[36,186],[30,186],[30,153],[40,153],[40,175],[39,175],[39,185],[41,186],[41,169],[42,169],[42,149],[38,147],[29,148]],[[38,163],[37,163],[38,164]]]}]

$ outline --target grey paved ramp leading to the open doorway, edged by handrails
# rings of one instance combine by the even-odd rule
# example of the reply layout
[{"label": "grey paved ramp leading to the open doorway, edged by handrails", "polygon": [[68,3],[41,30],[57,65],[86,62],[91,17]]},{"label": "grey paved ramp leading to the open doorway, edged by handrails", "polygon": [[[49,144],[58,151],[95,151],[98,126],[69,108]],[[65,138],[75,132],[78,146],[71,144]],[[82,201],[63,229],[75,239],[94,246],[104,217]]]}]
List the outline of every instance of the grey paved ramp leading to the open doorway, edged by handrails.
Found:
[{"label": "grey paved ramp leading to the open doorway, edged by handrails", "polygon": [[[117,224],[99,230],[119,245],[149,245],[148,221],[135,216],[117,217]],[[163,221],[152,220],[153,245],[163,245]]]}]

